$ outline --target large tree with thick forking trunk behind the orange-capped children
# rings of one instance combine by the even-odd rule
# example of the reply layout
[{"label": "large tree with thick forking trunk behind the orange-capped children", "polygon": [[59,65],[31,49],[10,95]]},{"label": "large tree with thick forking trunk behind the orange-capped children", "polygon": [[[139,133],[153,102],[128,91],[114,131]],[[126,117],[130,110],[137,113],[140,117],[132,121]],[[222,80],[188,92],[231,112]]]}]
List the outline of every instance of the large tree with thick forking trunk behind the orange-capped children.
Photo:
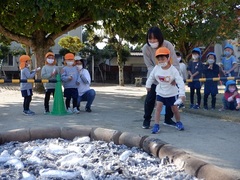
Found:
[{"label": "large tree with thick forking trunk behind the orange-capped children", "polygon": [[[57,37],[106,15],[110,16],[116,5],[113,0],[99,3],[85,0],[1,1],[0,33],[31,47],[36,57],[36,66],[43,66],[44,55]],[[110,6],[113,8],[109,9]]]}]

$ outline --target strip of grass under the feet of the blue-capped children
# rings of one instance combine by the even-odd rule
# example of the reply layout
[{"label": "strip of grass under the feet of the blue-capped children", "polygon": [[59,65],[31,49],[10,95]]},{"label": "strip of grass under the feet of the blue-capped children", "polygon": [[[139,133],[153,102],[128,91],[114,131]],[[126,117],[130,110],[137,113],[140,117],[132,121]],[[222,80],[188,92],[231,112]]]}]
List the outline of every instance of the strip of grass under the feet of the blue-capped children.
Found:
[{"label": "strip of grass under the feet of the blue-capped children", "polygon": [[[201,116],[211,117],[215,119],[221,119],[225,121],[231,122],[239,122],[240,123],[240,111],[219,111],[222,107],[222,97],[224,92],[224,86],[219,86],[219,94],[217,95],[216,101],[216,109],[215,110],[204,110],[203,109],[203,88],[201,89],[202,101],[201,101],[201,108],[200,109],[189,109],[190,106],[190,93],[189,88],[186,87],[186,101],[184,102],[185,108],[182,109],[183,112],[198,114]],[[144,102],[146,96],[141,98],[142,102]],[[195,94],[196,100],[196,94]],[[208,106],[211,107],[211,95],[208,97]]]}]

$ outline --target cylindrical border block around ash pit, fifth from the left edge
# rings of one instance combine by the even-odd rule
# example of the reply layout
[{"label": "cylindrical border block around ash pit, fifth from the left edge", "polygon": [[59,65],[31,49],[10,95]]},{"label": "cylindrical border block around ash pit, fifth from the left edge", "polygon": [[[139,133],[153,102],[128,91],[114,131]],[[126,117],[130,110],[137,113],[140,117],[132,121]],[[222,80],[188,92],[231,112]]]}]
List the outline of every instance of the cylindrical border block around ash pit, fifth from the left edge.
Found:
[{"label": "cylindrical border block around ash pit, fifth from the left edge", "polygon": [[143,141],[147,137],[148,136],[141,136],[141,135],[136,135],[134,133],[123,132],[121,134],[121,136],[119,137],[119,144],[124,144],[128,147],[142,148],[143,147]]}]

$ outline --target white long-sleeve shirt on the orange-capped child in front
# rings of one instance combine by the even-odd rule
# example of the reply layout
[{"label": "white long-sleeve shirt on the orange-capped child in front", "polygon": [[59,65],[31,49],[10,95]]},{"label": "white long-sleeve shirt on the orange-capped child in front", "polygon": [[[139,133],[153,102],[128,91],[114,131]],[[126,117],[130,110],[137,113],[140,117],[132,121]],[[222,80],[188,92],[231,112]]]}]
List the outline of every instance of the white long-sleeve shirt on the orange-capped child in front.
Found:
[{"label": "white long-sleeve shirt on the orange-capped child in front", "polygon": [[[162,97],[172,97],[176,95],[185,96],[183,78],[173,65],[168,69],[162,69],[160,66],[156,65],[147,79],[146,88],[151,88],[155,80],[158,82],[156,87],[157,95]],[[177,86],[171,84],[173,80],[175,80]]]}]

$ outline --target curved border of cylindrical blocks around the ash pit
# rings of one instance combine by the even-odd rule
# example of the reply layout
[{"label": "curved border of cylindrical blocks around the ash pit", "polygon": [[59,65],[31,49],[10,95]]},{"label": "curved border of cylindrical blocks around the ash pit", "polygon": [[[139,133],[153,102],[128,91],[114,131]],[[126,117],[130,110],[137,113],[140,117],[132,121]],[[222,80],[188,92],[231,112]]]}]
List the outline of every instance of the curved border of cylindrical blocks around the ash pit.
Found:
[{"label": "curved border of cylindrical blocks around the ash pit", "polygon": [[36,139],[59,137],[73,140],[76,136],[89,136],[91,140],[113,141],[118,145],[124,144],[128,147],[142,148],[145,152],[159,157],[160,159],[167,157],[168,160],[174,163],[178,168],[183,168],[186,173],[200,179],[240,179],[240,177],[231,175],[225,169],[199,160],[189,153],[175,148],[160,139],[100,127],[74,126],[12,130],[0,133],[0,145],[11,141],[26,142]]}]

